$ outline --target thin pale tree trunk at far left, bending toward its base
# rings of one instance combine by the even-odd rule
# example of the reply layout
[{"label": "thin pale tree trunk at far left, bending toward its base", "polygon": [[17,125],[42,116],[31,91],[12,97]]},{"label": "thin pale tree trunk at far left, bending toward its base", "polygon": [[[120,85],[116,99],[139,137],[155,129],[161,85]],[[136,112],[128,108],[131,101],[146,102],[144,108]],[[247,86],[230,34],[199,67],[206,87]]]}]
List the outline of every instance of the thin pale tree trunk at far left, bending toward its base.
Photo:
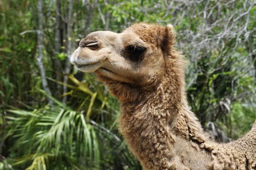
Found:
[{"label": "thin pale tree trunk at far left, bending toward its base", "polygon": [[[37,66],[40,71],[41,79],[42,79],[42,85],[44,91],[51,95],[51,90],[48,86],[46,76],[45,76],[45,69],[43,64],[43,1],[38,0],[37,1],[37,12],[38,12],[38,30],[37,30],[37,51],[38,56],[36,57]],[[50,98],[47,98],[50,105],[53,104],[53,101]]]}]

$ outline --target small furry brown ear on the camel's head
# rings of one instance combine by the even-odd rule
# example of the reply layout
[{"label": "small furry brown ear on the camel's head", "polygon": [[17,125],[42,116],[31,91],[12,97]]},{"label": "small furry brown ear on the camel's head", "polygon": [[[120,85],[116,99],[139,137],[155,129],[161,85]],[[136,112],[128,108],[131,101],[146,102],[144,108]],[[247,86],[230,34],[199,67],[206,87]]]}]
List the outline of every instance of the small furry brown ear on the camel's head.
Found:
[{"label": "small furry brown ear on the camel's head", "polygon": [[175,31],[171,24],[161,29],[159,40],[162,51],[168,51],[175,43]]}]

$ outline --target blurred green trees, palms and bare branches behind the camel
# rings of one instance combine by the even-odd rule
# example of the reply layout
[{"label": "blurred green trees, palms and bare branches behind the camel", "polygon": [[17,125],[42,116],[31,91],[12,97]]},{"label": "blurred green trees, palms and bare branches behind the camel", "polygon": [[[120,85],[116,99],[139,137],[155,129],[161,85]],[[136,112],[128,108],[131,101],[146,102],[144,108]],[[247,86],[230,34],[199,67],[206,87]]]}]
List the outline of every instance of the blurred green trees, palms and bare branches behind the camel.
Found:
[{"label": "blurred green trees, palms and bare branches behind the camel", "polygon": [[117,99],[68,65],[86,34],[134,22],[174,25],[176,47],[190,61],[188,101],[205,129],[236,139],[251,128],[255,0],[44,0],[43,20],[39,1],[0,1],[0,170],[141,169],[118,133]]}]

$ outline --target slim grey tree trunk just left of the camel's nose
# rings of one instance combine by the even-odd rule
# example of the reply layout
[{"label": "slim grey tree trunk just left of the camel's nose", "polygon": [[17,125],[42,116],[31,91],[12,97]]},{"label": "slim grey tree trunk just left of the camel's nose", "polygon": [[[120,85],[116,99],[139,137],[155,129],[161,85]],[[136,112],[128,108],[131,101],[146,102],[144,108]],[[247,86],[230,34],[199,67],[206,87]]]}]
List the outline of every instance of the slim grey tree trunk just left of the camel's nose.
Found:
[{"label": "slim grey tree trunk just left of the camel's nose", "polygon": [[[67,55],[70,55],[71,52],[71,34],[72,34],[72,10],[73,10],[73,0],[69,0],[69,5],[68,5],[68,21],[67,21]],[[68,58],[66,59],[66,64],[65,64],[65,75],[64,75],[64,86],[63,86],[63,94],[67,93],[68,87],[68,74],[70,73],[70,62]],[[67,102],[67,96],[63,97],[62,102]]]}]

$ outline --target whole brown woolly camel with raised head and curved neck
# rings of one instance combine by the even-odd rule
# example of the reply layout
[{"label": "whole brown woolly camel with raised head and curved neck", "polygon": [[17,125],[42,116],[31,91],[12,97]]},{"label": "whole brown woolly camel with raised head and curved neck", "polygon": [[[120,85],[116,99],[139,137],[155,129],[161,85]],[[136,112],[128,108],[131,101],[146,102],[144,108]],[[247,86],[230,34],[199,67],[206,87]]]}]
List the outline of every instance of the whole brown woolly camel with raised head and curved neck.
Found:
[{"label": "whole brown woolly camel with raised head and curved neck", "polygon": [[171,24],[137,23],[88,34],[70,62],[118,98],[119,131],[145,170],[256,170],[256,122],[236,141],[211,140],[189,110],[174,42]]}]

